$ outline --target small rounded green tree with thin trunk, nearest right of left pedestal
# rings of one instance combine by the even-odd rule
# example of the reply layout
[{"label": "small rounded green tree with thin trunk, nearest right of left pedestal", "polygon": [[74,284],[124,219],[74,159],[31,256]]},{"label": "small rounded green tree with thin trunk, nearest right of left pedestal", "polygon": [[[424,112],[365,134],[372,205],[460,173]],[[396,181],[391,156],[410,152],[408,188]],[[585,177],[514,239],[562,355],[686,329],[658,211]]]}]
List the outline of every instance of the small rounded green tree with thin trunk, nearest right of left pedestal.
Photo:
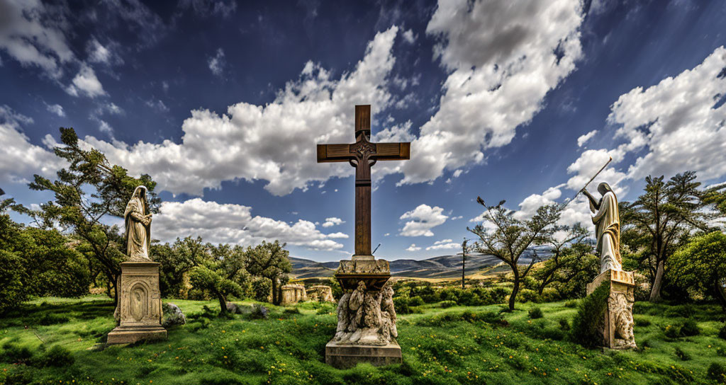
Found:
[{"label": "small rounded green tree with thin trunk, nearest right of left pedestal", "polygon": [[247,253],[240,246],[221,244],[208,246],[208,257],[189,270],[192,285],[208,290],[219,300],[219,314],[227,313],[230,296],[244,297],[250,291],[250,280],[245,265]]}]

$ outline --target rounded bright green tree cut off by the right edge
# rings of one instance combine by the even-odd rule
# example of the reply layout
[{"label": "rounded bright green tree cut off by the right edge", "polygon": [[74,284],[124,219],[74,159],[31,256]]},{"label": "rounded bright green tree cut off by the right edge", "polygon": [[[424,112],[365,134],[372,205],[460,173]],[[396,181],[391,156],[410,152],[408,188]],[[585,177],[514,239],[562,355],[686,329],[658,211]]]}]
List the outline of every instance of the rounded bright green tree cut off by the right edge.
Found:
[{"label": "rounded bright green tree cut off by the right edge", "polygon": [[691,295],[713,295],[726,309],[726,234],[695,236],[668,260],[666,277]]}]

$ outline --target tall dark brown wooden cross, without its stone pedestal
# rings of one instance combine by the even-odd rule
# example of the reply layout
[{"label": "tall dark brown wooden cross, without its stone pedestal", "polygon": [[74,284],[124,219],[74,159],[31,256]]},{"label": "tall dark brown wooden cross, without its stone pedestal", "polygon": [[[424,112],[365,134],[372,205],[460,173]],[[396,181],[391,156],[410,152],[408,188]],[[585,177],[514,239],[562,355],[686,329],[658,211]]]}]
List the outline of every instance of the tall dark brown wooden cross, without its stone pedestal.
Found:
[{"label": "tall dark brown wooden cross, without its stone pedestal", "polygon": [[408,160],[411,144],[371,143],[370,104],[356,106],[356,142],[354,144],[318,144],[318,163],[349,162],[356,167],[356,254],[370,252],[370,167],[379,160]]}]

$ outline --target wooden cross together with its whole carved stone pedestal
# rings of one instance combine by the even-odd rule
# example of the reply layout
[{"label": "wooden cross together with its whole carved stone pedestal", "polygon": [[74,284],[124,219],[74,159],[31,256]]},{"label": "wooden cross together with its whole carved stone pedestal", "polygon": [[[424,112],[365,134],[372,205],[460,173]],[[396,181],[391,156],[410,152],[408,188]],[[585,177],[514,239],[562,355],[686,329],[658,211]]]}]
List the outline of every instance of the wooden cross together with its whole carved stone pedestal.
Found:
[{"label": "wooden cross together with its whole carved stone pedestal", "polygon": [[401,363],[396,337],[393,288],[387,260],[376,260],[370,237],[370,167],[379,160],[408,160],[410,143],[372,143],[370,105],[356,106],[353,144],[318,144],[318,162],[349,162],[356,167],[355,254],[341,260],[335,278],[343,288],[335,336],[325,345],[325,362],[336,368],[356,363]]}]

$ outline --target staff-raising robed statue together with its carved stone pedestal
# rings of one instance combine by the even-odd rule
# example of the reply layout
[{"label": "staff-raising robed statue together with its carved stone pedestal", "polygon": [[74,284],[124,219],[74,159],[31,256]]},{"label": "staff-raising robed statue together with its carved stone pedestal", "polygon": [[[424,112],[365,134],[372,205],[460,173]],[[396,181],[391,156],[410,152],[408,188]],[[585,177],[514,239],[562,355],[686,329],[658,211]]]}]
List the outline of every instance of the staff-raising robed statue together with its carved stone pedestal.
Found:
[{"label": "staff-raising robed statue together with its carved stone pedestal", "polygon": [[635,302],[635,278],[632,271],[623,271],[620,257],[620,216],[618,199],[608,183],[597,186],[602,198],[595,199],[587,190],[582,193],[590,201],[592,223],[597,236],[597,255],[600,257],[600,275],[587,284],[590,295],[601,284],[610,286],[605,319],[599,326],[603,332],[603,346],[612,349],[635,349],[632,308]]}]

